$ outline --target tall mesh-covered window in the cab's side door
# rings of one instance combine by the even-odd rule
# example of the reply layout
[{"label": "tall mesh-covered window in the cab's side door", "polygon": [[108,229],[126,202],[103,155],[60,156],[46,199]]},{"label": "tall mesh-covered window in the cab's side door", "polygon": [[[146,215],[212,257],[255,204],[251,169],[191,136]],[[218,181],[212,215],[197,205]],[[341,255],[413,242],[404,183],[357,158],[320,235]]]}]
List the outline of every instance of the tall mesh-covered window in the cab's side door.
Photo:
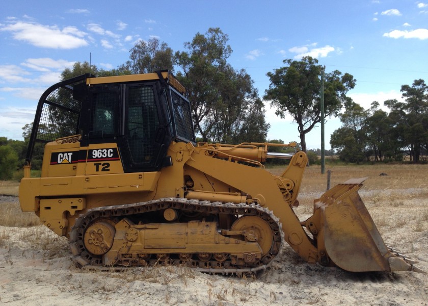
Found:
[{"label": "tall mesh-covered window in the cab's side door", "polygon": [[134,164],[152,165],[157,157],[155,138],[159,127],[151,86],[128,87],[126,139]]}]

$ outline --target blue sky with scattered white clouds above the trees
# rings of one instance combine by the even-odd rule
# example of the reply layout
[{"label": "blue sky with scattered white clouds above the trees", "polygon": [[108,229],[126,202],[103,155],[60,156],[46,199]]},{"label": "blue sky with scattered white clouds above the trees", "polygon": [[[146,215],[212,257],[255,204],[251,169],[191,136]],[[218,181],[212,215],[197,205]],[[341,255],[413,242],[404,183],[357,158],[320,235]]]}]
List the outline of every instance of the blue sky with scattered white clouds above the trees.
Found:
[{"label": "blue sky with scattered white clouds above the trees", "polygon": [[[284,59],[317,58],[327,72],[354,75],[349,95],[365,108],[401,100],[400,87],[428,82],[428,0],[423,1],[14,1],[0,12],[0,136],[22,139],[41,93],[74,62],[117,68],[138,40],[174,50],[218,27],[229,36],[229,63],[244,68],[262,97],[266,73]],[[299,141],[297,125],[266,101],[269,139]],[[337,118],[326,123],[330,134]],[[320,147],[319,128],[307,135]]]}]

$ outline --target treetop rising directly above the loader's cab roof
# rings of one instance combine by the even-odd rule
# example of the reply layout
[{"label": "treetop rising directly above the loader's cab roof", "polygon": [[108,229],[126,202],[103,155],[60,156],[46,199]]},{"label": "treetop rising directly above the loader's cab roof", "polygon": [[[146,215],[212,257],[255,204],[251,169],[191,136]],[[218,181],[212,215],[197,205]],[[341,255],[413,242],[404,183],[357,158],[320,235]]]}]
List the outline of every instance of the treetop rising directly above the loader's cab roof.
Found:
[{"label": "treetop rising directly above the loader's cab roof", "polygon": [[132,74],[138,74],[168,69],[174,72],[173,50],[157,38],[151,38],[147,42],[139,40],[129,52],[129,60],[119,67],[120,71],[128,70]]}]

